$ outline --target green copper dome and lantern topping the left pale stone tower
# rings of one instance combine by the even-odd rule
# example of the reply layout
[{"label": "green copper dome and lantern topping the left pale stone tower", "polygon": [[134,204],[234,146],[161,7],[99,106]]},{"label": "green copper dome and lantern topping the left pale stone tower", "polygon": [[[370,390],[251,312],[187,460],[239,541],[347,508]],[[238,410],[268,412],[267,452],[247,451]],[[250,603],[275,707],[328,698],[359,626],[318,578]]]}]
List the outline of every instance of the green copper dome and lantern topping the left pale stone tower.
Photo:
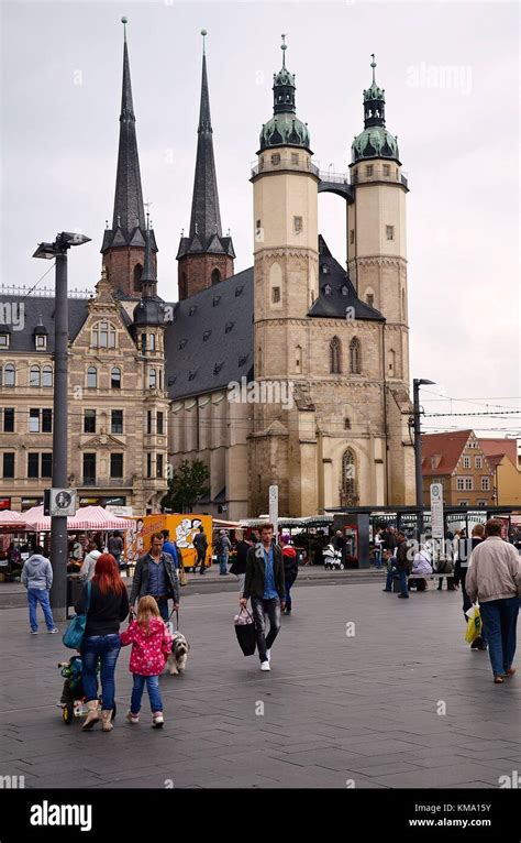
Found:
[{"label": "green copper dome and lantern topping the left pale stone tower", "polygon": [[[282,41],[286,35],[282,35]],[[270,146],[302,146],[309,149],[309,131],[297,117],[295,75],[286,67],[286,43],[282,43],[282,67],[274,74],[274,116],[260,131],[259,152]]]}]

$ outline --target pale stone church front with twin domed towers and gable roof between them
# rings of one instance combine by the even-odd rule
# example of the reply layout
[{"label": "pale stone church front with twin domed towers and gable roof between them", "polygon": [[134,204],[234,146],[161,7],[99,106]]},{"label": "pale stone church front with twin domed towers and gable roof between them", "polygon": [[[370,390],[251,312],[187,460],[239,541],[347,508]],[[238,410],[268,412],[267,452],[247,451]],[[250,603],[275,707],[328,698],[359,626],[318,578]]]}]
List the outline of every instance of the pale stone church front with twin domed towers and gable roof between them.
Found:
[{"label": "pale stone church front with twin domed towers and gable roof between them", "polygon": [[[358,165],[370,149],[363,145],[358,154],[359,139],[355,141],[355,183],[358,176],[364,185],[375,179],[374,193],[362,193],[356,185],[358,251],[353,249],[350,209],[348,259],[355,288],[350,273],[319,239],[320,174],[312,163],[308,127],[296,114],[295,76],[286,68],[285,51],[282,44],[282,68],[274,77],[274,117],[263,125],[252,175],[259,398],[252,405],[251,515],[266,511],[270,484],[279,486],[279,511],[288,516],[328,506],[409,503],[413,464],[402,309],[406,188],[399,162],[387,156],[385,146],[374,153],[373,171],[359,172],[358,166],[370,166],[365,160]],[[381,101],[377,89],[373,108],[381,109]],[[367,106],[366,119],[381,119],[369,111]],[[392,153],[393,139],[387,141],[379,122],[374,125]],[[366,124],[366,132],[367,127],[373,123]],[[377,163],[389,166],[379,179]],[[381,185],[384,172],[387,182]],[[383,193],[386,188],[389,194]],[[381,220],[383,236],[374,230]],[[386,252],[390,231],[399,239]],[[391,263],[385,263],[387,258]],[[376,272],[364,262],[367,259],[375,262]]]}]

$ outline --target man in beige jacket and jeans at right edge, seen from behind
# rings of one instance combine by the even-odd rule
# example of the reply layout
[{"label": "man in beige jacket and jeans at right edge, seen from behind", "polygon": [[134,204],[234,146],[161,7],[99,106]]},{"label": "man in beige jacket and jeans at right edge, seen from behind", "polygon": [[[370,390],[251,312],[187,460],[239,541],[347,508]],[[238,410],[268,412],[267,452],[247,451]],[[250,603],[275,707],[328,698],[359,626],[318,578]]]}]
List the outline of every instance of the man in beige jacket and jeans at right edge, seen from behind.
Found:
[{"label": "man in beige jacket and jeans at right edge, seen from behind", "polygon": [[501,526],[496,518],[487,522],[487,538],[470,554],[465,580],[473,603],[479,601],[497,685],[516,672],[512,661],[521,594],[521,558],[512,545],[502,540]]}]

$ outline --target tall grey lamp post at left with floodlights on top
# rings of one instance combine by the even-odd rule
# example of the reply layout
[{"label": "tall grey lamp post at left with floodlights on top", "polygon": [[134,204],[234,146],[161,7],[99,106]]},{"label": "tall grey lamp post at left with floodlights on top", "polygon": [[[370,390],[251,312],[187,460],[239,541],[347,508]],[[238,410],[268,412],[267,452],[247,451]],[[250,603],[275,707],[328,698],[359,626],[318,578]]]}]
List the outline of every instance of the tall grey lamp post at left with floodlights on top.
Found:
[{"label": "tall grey lamp post at left with floodlights on top", "polygon": [[[53,396],[53,489],[67,488],[67,424],[68,424],[68,299],[67,252],[71,245],[89,243],[90,238],[62,231],[54,243],[40,243],[33,258],[56,259],[54,310],[54,396]],[[67,516],[51,517],[51,565],[53,588],[51,604],[57,621],[67,614]]]}]

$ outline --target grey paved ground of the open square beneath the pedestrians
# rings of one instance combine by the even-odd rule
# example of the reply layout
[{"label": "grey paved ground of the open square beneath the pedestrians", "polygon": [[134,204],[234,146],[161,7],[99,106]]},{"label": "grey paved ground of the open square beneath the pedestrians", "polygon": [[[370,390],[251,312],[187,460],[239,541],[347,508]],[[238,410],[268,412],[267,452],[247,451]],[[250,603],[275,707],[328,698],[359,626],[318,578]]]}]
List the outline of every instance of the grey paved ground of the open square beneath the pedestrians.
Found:
[{"label": "grey paved ground of the open square beneath the pedestrians", "polygon": [[497,788],[521,770],[521,672],[492,683],[488,655],[464,642],[458,592],[293,593],[266,674],[236,643],[235,594],[185,598],[191,652],[184,677],[160,679],[163,731],[146,697],[140,725],[124,720],[128,648],[113,731],[65,725],[56,666],[70,652],[31,636],[25,610],[0,612],[0,775],[27,788]]}]

